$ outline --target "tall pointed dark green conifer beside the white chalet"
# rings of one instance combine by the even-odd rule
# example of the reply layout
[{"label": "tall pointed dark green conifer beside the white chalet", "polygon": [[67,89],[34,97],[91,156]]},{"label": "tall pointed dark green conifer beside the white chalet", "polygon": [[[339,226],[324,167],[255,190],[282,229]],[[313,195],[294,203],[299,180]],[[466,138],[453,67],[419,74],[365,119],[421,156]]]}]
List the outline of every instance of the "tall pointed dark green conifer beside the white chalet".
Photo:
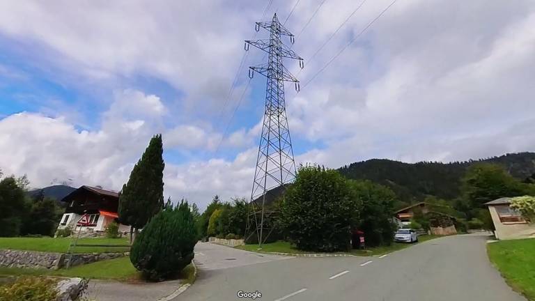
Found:
[{"label": "tall pointed dark green conifer beside the white chalet", "polygon": [[148,144],[119,194],[119,220],[141,229],[164,206],[164,160],[162,135]]}]

